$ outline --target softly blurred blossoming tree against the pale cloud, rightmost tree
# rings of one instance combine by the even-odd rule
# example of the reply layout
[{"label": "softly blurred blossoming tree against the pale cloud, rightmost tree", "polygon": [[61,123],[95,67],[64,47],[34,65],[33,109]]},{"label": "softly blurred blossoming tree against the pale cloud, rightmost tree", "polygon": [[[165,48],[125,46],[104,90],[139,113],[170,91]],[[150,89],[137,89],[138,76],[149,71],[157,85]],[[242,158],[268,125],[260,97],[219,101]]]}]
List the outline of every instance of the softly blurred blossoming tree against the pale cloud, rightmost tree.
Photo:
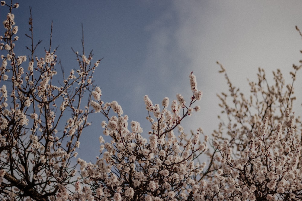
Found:
[{"label": "softly blurred blossoming tree against the pale cloud, rightmost tree", "polygon": [[286,86],[280,70],[273,72],[275,83],[270,86],[259,68],[258,81],[249,82],[249,98],[232,85],[219,64],[232,104],[225,93],[219,95],[227,117],[213,133],[219,168],[211,184],[218,185],[219,190],[206,190],[205,197],[215,199],[216,194],[218,200],[301,200],[301,120],[292,111],[293,84],[301,63],[293,65],[292,83]]}]

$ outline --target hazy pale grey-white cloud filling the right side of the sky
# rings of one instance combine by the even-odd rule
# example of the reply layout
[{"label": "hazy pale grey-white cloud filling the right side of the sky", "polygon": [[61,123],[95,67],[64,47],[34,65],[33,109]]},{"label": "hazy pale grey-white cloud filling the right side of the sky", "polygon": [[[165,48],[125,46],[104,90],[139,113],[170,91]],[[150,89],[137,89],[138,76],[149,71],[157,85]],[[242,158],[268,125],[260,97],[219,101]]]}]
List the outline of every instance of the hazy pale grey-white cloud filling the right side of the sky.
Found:
[{"label": "hazy pale grey-white cloud filling the right side of the sky", "polygon": [[300,36],[294,26],[302,19],[301,3],[295,3],[173,1],[147,26],[151,37],[145,66],[155,71],[151,75],[159,86],[167,86],[171,96],[186,92],[187,75],[194,71],[204,91],[201,113],[188,121],[188,127],[202,124],[207,132],[215,128],[216,94],[227,91],[217,60],[247,94],[247,79],[257,78],[258,67],[265,68],[270,80],[277,68],[289,73],[300,56]]}]

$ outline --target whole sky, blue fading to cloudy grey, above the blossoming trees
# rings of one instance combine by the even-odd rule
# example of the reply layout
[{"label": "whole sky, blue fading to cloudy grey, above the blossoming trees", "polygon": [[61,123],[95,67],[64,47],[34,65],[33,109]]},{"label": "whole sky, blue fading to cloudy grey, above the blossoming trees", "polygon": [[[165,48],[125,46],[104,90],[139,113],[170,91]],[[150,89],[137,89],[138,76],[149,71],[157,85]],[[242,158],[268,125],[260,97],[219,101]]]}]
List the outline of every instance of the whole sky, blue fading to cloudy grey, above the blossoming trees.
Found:
[{"label": "whole sky, blue fading to cloudy grey, above the blossoming trees", "polygon": [[[181,93],[188,102],[191,71],[203,91],[198,103],[201,112],[185,119],[182,126],[187,132],[202,127],[210,136],[220,114],[216,94],[228,90],[216,61],[226,68],[233,84],[248,95],[247,79],[256,80],[259,67],[265,69],[268,78],[278,68],[288,75],[292,64],[301,59],[302,39],[295,29],[296,25],[302,29],[301,1],[27,0],[19,4],[14,14],[20,54],[28,51],[25,45],[29,45],[29,39],[24,34],[29,33],[30,7],[34,38],[43,40],[38,56],[49,47],[53,21],[53,49],[59,46],[56,54],[66,72],[77,68],[71,47],[82,51],[83,24],[85,51],[88,54],[93,49],[95,61],[104,58],[94,74],[102,100],[116,100],[130,121],[140,122],[145,133],[150,125],[143,97],[149,95],[153,104],[161,104],[164,97],[171,102]],[[1,8],[2,20],[6,13]],[[299,97],[301,72],[297,77]],[[78,152],[80,158],[94,161],[101,114],[90,120],[93,126],[82,134]]]}]

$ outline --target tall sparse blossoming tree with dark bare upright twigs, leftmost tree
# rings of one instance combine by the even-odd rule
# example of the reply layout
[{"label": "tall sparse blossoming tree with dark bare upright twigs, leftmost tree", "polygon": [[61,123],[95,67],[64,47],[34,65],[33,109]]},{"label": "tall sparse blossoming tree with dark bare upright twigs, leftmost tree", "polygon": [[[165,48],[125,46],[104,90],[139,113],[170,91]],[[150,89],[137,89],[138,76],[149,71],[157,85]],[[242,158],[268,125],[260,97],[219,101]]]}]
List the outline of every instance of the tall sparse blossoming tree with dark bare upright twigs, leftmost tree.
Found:
[{"label": "tall sparse blossoming tree with dark bare upright twigs, leftmost tree", "polygon": [[92,55],[87,58],[84,51],[76,52],[79,69],[66,75],[60,85],[55,83],[57,56],[51,39],[43,57],[35,56],[40,41],[34,44],[30,18],[31,55],[16,55],[18,26],[12,11],[19,4],[1,1],[1,5],[9,9],[3,21],[5,33],[0,36],[0,197],[49,200],[74,183],[77,171],[72,158],[91,113],[89,100],[88,104],[81,101],[100,60],[92,64]]}]

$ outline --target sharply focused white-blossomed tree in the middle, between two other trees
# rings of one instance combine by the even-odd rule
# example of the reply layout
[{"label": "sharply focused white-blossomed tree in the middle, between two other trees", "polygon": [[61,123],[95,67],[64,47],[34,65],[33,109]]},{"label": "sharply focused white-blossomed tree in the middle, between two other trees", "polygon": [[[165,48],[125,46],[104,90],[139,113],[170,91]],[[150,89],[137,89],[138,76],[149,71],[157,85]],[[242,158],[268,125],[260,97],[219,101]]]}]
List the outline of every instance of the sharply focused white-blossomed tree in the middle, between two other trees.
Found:
[{"label": "sharply focused white-blossomed tree in the middle, between two other trees", "polygon": [[[102,113],[108,121],[102,121],[103,134],[111,138],[110,143],[100,136],[100,157],[95,163],[85,162],[78,158],[83,187],[92,190],[95,200],[178,200],[189,195],[188,189],[205,167],[205,164],[194,162],[201,153],[207,150],[207,140],[199,141],[200,130],[191,133],[188,139],[180,125],[183,118],[190,115],[193,103],[201,98],[197,89],[196,78],[190,74],[193,96],[186,105],[184,97],[176,95],[171,110],[168,110],[169,98],[162,101],[163,108],[146,95],[144,97],[148,121],[151,123],[149,140],[137,121],[130,122],[123,116],[121,106],[113,101],[104,103],[100,99],[101,90],[92,91],[95,100],[91,101],[96,112]],[[117,115],[109,116],[110,111]],[[182,112],[181,112],[182,111]],[[192,110],[191,110],[192,111]],[[175,136],[174,130],[181,133]],[[187,182],[187,181],[190,182]]]}]

